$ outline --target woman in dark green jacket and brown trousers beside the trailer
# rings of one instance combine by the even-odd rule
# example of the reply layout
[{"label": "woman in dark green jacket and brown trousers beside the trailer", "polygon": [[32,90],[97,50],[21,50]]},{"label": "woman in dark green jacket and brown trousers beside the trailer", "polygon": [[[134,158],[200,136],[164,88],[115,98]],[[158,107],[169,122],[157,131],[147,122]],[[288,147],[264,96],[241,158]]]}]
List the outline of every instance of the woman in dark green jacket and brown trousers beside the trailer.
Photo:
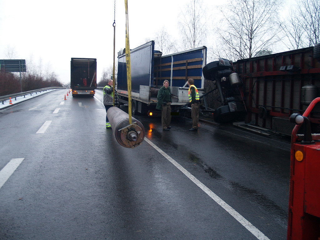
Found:
[{"label": "woman in dark green jacket and brown trousers beside the trailer", "polygon": [[164,80],[163,87],[159,89],[157,95],[157,106],[156,109],[161,110],[161,122],[162,130],[169,131],[171,129],[171,90],[169,87],[169,81]]}]

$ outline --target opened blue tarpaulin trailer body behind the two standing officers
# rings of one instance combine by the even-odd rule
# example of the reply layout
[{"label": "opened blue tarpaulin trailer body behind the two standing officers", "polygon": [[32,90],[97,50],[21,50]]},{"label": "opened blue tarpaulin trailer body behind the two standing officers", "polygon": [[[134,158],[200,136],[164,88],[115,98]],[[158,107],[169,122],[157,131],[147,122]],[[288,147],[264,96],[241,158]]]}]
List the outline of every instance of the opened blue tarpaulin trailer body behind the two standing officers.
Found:
[{"label": "opened blue tarpaulin trailer body behind the two standing officers", "polygon": [[[161,52],[154,50],[154,45],[155,42],[150,41],[130,50],[133,112],[155,108],[156,92],[163,86],[164,80],[170,82],[172,105],[184,105],[189,101],[188,78],[195,80],[200,93],[204,89],[202,68],[206,64],[205,46],[161,56]],[[128,103],[127,89],[126,59],[123,51],[118,53],[117,90],[120,102],[125,104]]]}]

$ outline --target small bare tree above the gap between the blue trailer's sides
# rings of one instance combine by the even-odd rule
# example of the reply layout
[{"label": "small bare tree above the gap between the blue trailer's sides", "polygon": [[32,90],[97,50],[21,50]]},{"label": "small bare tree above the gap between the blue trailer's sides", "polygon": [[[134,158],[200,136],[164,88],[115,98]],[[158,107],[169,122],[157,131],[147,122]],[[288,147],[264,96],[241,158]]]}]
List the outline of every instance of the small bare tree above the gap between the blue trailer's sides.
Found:
[{"label": "small bare tree above the gap between the blue trailer's sides", "polygon": [[164,27],[162,27],[161,30],[156,33],[155,49],[162,52],[163,55],[177,52],[178,50],[176,45],[176,42],[174,40],[172,41],[172,37],[168,34]]}]

